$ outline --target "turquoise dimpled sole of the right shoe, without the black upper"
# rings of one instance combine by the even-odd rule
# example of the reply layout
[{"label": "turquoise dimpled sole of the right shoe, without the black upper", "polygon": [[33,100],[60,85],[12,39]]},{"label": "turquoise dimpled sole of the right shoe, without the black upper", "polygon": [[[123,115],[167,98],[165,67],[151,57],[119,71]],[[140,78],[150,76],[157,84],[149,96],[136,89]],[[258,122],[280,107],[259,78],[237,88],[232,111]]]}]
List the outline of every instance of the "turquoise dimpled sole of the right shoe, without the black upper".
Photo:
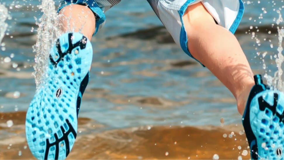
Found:
[{"label": "turquoise dimpled sole of the right shoe, without the black upper", "polygon": [[258,159],[284,158],[284,108],[280,104],[284,104],[284,94],[273,90],[260,92],[251,101],[250,126],[257,141]]}]

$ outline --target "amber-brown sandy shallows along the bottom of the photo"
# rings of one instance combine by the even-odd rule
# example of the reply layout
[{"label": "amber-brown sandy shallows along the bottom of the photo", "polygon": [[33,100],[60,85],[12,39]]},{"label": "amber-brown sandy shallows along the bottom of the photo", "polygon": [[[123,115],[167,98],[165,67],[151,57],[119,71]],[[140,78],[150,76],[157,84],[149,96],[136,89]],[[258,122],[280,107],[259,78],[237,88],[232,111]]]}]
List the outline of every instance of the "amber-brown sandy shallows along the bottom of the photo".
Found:
[{"label": "amber-brown sandy shallows along the bottom of the photo", "polygon": [[[8,120],[13,121],[10,128]],[[25,112],[0,113],[0,159],[35,159],[27,147],[24,124]],[[76,143],[67,159],[212,159],[214,154],[219,159],[250,159],[241,124],[143,126],[96,132],[103,127],[89,118],[79,118]],[[224,134],[231,138],[224,138]],[[248,151],[246,156],[244,150]]]}]

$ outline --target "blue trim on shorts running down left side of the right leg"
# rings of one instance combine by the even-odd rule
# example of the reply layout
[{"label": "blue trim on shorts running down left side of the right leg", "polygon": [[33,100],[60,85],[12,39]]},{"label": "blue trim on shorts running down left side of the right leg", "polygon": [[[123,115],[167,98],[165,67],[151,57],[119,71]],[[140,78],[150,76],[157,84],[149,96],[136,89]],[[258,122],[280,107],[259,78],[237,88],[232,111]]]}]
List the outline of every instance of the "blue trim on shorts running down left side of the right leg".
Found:
[{"label": "blue trim on shorts running down left side of the right leg", "polygon": [[[184,28],[183,25],[183,20],[182,20],[182,16],[184,14],[184,12],[186,11],[186,8],[188,7],[189,4],[191,4],[192,2],[194,2],[195,0],[188,0],[186,1],[185,4],[183,4],[183,6],[181,6],[180,10],[178,11],[179,16],[181,18],[181,34],[179,36],[179,43],[181,45],[181,49],[191,58],[195,59],[189,52],[188,47],[187,47],[187,34],[186,34],[186,30]],[[197,59],[195,59],[195,61],[198,61]],[[198,61],[202,66],[204,66],[200,61]],[[204,66],[205,67],[205,66]]]}]

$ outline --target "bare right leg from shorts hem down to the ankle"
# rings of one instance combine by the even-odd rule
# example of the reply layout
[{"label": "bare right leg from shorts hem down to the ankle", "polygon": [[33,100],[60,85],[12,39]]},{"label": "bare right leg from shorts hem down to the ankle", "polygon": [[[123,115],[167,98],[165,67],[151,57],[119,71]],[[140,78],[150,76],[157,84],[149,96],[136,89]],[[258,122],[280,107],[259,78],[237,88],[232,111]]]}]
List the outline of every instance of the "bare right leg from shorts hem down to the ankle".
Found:
[{"label": "bare right leg from shorts hem down to the ankle", "polygon": [[238,40],[214,22],[201,2],[188,6],[183,24],[191,55],[232,92],[237,100],[238,111],[243,114],[254,80]]}]

